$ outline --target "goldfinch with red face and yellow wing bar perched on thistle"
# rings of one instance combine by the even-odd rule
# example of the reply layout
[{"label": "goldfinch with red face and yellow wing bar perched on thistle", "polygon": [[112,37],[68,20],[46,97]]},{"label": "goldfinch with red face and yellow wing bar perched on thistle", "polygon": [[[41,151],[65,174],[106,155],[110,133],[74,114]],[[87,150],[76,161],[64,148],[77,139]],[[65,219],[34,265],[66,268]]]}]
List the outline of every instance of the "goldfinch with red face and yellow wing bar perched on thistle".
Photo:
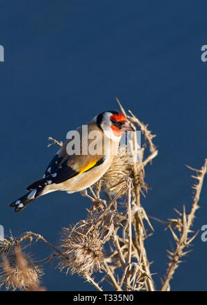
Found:
[{"label": "goldfinch with red face and yellow wing bar perched on thistle", "polygon": [[87,196],[86,189],[110,167],[125,131],[134,129],[124,114],[104,111],[72,132],[72,136],[69,132],[68,140],[52,158],[43,178],[29,185],[29,192],[10,207],[21,212],[34,199],[55,191],[81,192]]}]

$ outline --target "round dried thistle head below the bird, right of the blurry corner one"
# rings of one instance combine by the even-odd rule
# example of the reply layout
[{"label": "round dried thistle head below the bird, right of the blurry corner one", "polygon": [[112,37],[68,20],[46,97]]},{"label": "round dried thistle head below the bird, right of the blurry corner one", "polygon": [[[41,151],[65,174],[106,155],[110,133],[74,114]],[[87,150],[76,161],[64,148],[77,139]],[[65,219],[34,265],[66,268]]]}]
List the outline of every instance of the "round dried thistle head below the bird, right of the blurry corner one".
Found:
[{"label": "round dried thistle head below the bird, right of the blurry corner one", "polygon": [[[61,246],[59,268],[67,269],[71,274],[91,275],[101,270],[103,263],[103,245],[100,232],[87,222],[77,223],[71,228],[61,230]],[[66,258],[67,257],[67,258]]]}]

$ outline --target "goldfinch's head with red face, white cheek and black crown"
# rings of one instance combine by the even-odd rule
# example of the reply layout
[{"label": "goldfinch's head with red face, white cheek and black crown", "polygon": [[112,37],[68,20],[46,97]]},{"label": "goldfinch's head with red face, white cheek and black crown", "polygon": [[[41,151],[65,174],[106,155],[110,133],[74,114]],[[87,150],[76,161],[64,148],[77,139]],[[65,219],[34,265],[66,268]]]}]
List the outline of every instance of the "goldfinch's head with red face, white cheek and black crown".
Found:
[{"label": "goldfinch's head with red face, white cheek and black crown", "polygon": [[95,117],[97,125],[108,138],[120,140],[125,131],[135,131],[126,116],[118,111],[104,111]]}]

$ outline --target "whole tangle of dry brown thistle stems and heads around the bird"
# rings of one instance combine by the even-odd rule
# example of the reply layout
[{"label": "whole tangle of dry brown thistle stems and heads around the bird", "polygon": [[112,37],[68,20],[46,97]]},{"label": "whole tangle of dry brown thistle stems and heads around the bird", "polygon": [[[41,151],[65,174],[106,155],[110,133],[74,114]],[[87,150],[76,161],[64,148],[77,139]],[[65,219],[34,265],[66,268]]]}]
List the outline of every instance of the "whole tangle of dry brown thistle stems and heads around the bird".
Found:
[{"label": "whole tangle of dry brown thistle stems and heads around the bird", "polygon": [[[0,286],[6,284],[7,288],[35,290],[34,282],[37,282],[38,290],[38,276],[41,275],[41,270],[35,269],[25,255],[21,255],[21,261],[24,263],[20,265],[17,260],[14,262],[12,257],[16,246],[26,241],[31,244],[35,240],[43,241],[53,250],[52,254],[42,261],[48,263],[58,259],[57,267],[60,270],[66,269],[67,274],[70,272],[82,275],[97,290],[102,291],[100,283],[108,279],[117,291],[155,291],[155,283],[150,272],[151,263],[148,261],[145,248],[145,241],[153,233],[153,228],[146,210],[141,205],[141,196],[148,190],[145,182],[145,167],[152,163],[158,154],[153,142],[155,135],[148,129],[148,125],[142,123],[131,111],[127,115],[119,100],[117,102],[132,127],[141,130],[144,136],[143,145],[139,147],[136,133],[132,133],[132,139],[128,143],[130,151],[126,151],[125,146],[119,147],[110,169],[90,187],[92,196],[99,203],[96,209],[88,211],[86,219],[80,220],[76,225],[63,228],[59,246],[53,246],[40,234],[33,232],[26,232],[18,239],[8,237],[1,241],[0,253],[4,256],[3,264],[1,264],[3,272],[0,277]],[[49,140],[56,145],[62,145],[62,142],[51,137]],[[170,261],[161,290],[170,290],[170,280],[181,263],[181,257],[188,253],[185,249],[197,235],[196,233],[190,236],[193,232],[195,212],[199,207],[197,203],[206,169],[207,159],[201,169],[193,169],[197,173],[193,176],[197,184],[193,186],[195,196],[189,214],[186,214],[184,206],[183,212],[177,212],[177,218],[160,221],[156,217],[151,217],[169,228],[176,245],[175,250],[168,251]],[[106,194],[108,205],[103,204],[100,194],[101,196]],[[10,255],[8,259],[5,256],[7,254]],[[27,272],[25,268],[29,268]],[[99,271],[102,272],[103,277],[98,283],[96,275]],[[33,278],[33,286],[28,279],[29,274],[30,279]]]}]

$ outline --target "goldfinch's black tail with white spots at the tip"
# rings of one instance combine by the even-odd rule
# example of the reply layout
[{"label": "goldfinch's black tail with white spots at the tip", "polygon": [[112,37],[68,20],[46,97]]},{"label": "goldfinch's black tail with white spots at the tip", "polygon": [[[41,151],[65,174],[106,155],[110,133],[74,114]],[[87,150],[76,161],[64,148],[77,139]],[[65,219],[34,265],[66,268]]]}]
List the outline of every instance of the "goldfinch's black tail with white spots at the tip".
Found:
[{"label": "goldfinch's black tail with white spots at the tip", "polygon": [[42,192],[43,188],[34,189],[22,196],[21,198],[17,199],[16,201],[12,202],[10,204],[10,207],[14,207],[14,212],[16,213],[21,212],[21,210],[23,210],[30,202],[41,196]]}]

